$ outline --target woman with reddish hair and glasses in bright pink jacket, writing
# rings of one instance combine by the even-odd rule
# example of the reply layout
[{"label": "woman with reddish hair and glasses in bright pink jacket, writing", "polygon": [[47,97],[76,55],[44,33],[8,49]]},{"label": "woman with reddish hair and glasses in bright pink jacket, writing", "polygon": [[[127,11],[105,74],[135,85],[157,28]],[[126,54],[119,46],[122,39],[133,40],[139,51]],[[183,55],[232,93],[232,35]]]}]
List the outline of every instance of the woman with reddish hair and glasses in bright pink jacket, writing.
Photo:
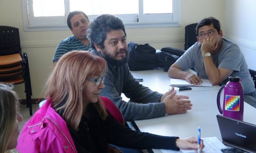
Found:
[{"label": "woman with reddish hair and glasses in bright pink jacket, writing", "polygon": [[46,85],[46,103],[24,125],[20,153],[119,152],[109,144],[131,149],[203,149],[196,138],[158,136],[123,125],[122,114],[106,97],[106,61],[89,52],[60,58]]}]

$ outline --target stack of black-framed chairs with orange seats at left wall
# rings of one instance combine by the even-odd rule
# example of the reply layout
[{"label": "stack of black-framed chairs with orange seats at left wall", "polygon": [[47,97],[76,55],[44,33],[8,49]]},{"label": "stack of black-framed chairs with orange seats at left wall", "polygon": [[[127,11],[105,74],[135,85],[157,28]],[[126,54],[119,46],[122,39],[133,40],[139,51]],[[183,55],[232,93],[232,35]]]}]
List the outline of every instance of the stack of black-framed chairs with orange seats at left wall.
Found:
[{"label": "stack of black-framed chairs with orange seats at left wall", "polygon": [[11,26],[0,26],[0,82],[13,85],[24,83],[27,107],[32,115],[28,57],[26,52],[21,52],[19,29]]}]

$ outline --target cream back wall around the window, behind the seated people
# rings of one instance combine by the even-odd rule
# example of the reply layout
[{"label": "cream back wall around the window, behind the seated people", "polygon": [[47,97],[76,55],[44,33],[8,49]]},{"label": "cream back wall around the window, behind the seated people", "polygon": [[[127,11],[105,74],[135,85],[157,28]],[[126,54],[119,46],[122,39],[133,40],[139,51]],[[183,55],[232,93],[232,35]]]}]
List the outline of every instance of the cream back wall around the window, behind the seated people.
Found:
[{"label": "cream back wall around the window, behind the seated people", "polygon": [[[224,0],[181,0],[181,27],[130,28],[127,42],[150,43],[154,48],[167,46],[184,48],[185,26],[199,22],[204,17],[216,17],[225,27]],[[86,13],[86,12],[85,12]],[[20,30],[22,52],[27,52],[32,84],[32,98],[43,97],[44,83],[52,71],[52,56],[61,39],[71,35],[70,31],[24,32],[21,0],[0,0],[0,25],[14,26]],[[25,98],[24,84],[14,90]]]}]

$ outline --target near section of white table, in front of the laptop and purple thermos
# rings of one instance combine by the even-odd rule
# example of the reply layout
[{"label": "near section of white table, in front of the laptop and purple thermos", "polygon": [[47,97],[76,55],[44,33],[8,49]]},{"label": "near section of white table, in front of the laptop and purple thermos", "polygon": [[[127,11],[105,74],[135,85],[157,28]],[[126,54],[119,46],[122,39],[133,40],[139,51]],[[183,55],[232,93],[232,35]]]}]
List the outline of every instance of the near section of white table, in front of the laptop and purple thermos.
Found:
[{"label": "near section of white table, in front of the laptop and purple thermos", "polygon": [[[196,94],[195,94],[196,93]],[[193,107],[186,114],[167,115],[149,120],[137,120],[136,125],[142,132],[180,138],[197,137],[198,126],[201,138],[217,137],[221,139],[216,115],[220,114],[216,105],[218,90],[183,92],[189,96]],[[256,124],[256,109],[244,103],[244,121]],[[161,153],[153,149],[154,153]]]}]

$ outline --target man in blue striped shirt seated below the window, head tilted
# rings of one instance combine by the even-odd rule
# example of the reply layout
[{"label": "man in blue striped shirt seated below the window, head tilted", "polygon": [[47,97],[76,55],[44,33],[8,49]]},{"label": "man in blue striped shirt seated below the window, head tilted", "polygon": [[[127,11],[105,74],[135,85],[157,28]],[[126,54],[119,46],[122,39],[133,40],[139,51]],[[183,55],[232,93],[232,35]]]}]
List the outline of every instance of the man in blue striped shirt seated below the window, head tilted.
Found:
[{"label": "man in blue striped shirt seated below the window, head tilted", "polygon": [[67,52],[91,49],[86,31],[89,24],[89,18],[84,12],[73,11],[69,13],[67,16],[67,25],[73,35],[60,41],[58,44],[53,56],[53,66],[55,66],[60,57]]}]

